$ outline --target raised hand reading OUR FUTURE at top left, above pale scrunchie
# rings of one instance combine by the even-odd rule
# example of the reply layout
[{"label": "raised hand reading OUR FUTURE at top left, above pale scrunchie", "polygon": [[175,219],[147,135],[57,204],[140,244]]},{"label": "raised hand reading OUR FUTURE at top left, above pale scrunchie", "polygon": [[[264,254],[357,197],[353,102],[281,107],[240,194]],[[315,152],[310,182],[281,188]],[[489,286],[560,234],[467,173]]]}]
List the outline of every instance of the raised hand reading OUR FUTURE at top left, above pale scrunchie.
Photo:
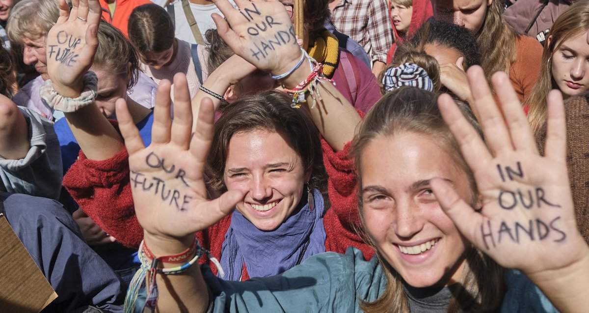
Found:
[{"label": "raised hand reading OUR FUTURE at top left, above pale scrunchie", "polygon": [[82,76],[98,48],[98,0],[72,0],[72,9],[59,0],[59,19],[47,34],[47,71],[55,91],[64,97],[80,95]]}]

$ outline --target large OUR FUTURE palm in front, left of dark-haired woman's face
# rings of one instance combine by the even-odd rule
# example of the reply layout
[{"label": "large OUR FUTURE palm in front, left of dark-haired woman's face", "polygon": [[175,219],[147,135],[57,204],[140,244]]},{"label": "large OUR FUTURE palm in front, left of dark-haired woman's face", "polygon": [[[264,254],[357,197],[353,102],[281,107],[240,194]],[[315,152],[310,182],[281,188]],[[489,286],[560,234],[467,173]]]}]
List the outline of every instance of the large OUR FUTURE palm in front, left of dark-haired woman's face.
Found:
[{"label": "large OUR FUTURE palm in front, left of dark-haired woman's face", "polygon": [[123,100],[117,102],[117,117],[129,153],[135,213],[146,240],[150,236],[151,240],[190,242],[195,232],[229,214],[243,195],[226,192],[207,200],[203,172],[213,138],[213,103],[209,98],[201,102],[191,135],[190,93],[183,74],[174,77],[174,88],[172,123],[170,83],[160,82],[150,146],[144,146]]}]

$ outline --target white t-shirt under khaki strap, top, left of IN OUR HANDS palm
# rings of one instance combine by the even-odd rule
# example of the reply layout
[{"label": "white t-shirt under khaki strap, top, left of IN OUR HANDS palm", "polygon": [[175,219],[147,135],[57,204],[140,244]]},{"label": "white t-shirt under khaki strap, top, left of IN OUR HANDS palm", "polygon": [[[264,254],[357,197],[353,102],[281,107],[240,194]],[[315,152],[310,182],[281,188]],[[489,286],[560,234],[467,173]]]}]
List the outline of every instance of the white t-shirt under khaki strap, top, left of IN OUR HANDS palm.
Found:
[{"label": "white t-shirt under khaki strap, top, left of IN OUR HANDS palm", "polygon": [[[165,5],[165,0],[151,0],[155,4],[158,5]],[[233,0],[229,0],[233,6],[235,2]],[[190,25],[188,25],[188,19],[186,19],[186,14],[184,14],[184,8],[182,7],[181,0],[174,0],[171,2],[174,5],[174,19],[176,21],[176,38],[180,40],[184,40],[190,42],[191,44],[196,44],[196,40],[194,39],[194,35],[192,34],[192,30],[190,29]],[[237,7],[237,6],[236,6]],[[213,18],[211,18],[211,14],[217,13],[221,14],[221,11],[217,8],[214,4],[190,4],[190,8],[192,9],[192,14],[194,15],[194,20],[196,20],[196,24],[198,25],[198,29],[200,29],[200,34],[203,35],[206,33],[207,29],[210,28],[217,28]]]}]

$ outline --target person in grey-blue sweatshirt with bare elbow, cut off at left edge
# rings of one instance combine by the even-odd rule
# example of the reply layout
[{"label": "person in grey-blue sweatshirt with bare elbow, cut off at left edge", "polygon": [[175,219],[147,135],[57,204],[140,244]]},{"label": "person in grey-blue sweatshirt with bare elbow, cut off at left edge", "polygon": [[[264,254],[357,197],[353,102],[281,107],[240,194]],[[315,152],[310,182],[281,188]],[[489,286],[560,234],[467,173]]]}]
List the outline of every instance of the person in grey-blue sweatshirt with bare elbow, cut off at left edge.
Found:
[{"label": "person in grey-blue sweatshirt with bare elbow, cut off at left edge", "polygon": [[55,131],[45,118],[12,98],[14,62],[0,47],[0,191],[57,200],[61,155]]}]

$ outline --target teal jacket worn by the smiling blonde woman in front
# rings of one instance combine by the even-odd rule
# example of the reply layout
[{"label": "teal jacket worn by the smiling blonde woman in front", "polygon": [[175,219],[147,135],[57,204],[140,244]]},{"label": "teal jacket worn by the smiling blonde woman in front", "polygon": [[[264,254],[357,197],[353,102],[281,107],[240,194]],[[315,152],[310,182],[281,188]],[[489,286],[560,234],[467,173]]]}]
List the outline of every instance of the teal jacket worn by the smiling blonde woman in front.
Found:
[{"label": "teal jacket worn by the smiling blonde woman in front", "polygon": [[[209,312],[361,312],[360,302],[375,301],[386,278],[376,258],[348,248],[345,255],[326,252],[278,276],[245,282],[223,281],[203,266],[211,292]],[[505,274],[508,291],[501,312],[557,312],[521,272]]]}]

